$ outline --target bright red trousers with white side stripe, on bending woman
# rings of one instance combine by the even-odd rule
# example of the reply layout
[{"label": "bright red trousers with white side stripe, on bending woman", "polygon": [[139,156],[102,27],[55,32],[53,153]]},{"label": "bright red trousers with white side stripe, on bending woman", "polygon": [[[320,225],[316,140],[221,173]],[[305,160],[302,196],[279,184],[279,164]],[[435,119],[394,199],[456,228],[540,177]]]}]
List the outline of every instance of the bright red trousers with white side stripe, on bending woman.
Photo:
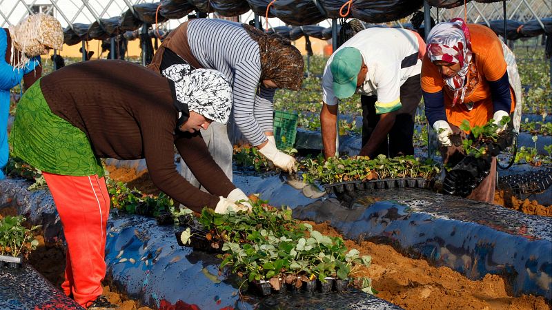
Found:
[{"label": "bright red trousers with white side stripe, on bending woman", "polygon": [[103,177],[43,172],[67,241],[63,293],[85,307],[102,293],[106,275],[106,224],[109,194]]}]

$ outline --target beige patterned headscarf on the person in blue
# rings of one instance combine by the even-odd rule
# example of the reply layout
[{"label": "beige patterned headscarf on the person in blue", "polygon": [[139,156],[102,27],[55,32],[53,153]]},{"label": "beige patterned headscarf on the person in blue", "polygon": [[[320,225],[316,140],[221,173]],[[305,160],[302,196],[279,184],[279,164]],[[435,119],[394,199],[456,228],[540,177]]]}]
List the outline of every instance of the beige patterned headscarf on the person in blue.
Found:
[{"label": "beige patterned headscarf on the person in blue", "polygon": [[[44,46],[61,50],[63,48],[63,28],[57,19],[43,13],[33,14],[20,21],[17,25],[10,25],[12,38],[12,59],[10,64],[17,63],[16,68],[23,68],[30,58],[47,54]],[[21,61],[15,61],[15,50],[21,52]]]}]

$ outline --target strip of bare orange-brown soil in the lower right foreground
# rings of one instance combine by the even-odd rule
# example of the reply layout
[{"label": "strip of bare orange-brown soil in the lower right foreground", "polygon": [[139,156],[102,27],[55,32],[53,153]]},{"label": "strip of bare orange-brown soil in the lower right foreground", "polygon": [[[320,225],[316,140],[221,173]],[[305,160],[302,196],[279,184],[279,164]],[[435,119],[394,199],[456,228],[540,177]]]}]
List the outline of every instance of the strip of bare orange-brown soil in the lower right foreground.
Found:
[{"label": "strip of bare orange-brown soil in the lower right foreground", "polygon": [[[341,236],[327,223],[313,229],[328,236]],[[448,267],[433,267],[426,260],[413,259],[398,253],[390,245],[346,240],[361,255],[372,256],[372,265],[358,276],[372,278],[377,297],[404,309],[549,309],[542,297],[509,296],[500,276],[486,275],[482,280],[469,280]]]}]

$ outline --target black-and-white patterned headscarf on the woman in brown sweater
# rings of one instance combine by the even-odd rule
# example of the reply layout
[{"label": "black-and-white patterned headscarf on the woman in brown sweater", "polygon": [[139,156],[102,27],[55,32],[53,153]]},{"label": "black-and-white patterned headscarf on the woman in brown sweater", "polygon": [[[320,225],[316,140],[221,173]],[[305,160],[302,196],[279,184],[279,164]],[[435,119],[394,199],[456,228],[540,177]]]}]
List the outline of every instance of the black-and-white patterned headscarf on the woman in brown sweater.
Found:
[{"label": "black-and-white patterned headscarf on the woman in brown sweater", "polygon": [[[179,122],[186,112],[193,111],[217,123],[226,124],[232,109],[232,86],[226,77],[212,69],[190,71],[190,65],[171,65],[161,72],[175,82],[175,103],[179,111]],[[178,125],[178,127],[179,127]]]}]

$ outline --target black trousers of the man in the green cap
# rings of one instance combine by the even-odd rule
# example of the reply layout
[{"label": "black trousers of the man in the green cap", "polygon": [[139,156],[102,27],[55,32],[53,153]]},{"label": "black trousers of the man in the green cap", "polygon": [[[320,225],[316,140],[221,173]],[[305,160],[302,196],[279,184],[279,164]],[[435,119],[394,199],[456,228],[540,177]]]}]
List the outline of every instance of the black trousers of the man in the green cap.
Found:
[{"label": "black trousers of the man in the green cap", "polygon": [[[395,124],[388,134],[389,141],[385,139],[377,147],[375,156],[384,154],[388,157],[400,155],[413,155],[414,145],[414,116],[420,100],[422,99],[422,87],[420,86],[420,74],[409,77],[400,90],[402,107],[396,111]],[[380,121],[380,115],[375,114],[376,96],[360,96],[362,105],[362,146],[368,143],[372,132]]]}]

